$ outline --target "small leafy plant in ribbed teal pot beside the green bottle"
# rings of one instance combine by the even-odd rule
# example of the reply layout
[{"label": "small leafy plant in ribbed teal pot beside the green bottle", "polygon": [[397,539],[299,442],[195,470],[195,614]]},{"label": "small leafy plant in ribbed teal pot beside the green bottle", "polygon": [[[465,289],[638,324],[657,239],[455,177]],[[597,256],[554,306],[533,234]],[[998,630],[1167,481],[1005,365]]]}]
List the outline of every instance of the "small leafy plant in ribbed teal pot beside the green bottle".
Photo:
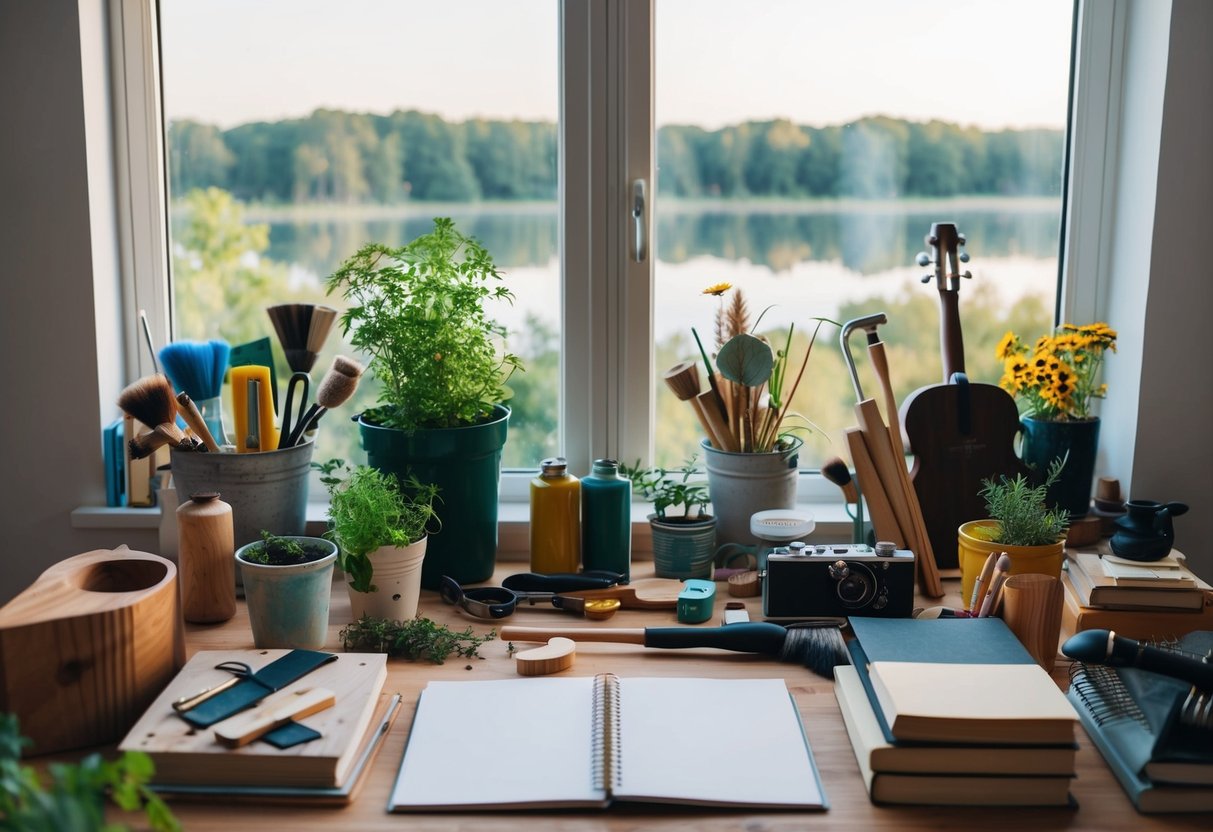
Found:
[{"label": "small leafy plant in ribbed teal pot beside the green bottle", "polygon": [[[711,577],[716,518],[707,513],[707,486],[693,481],[695,458],[680,468],[621,466],[633,490],[653,503],[653,564],[657,577]],[[673,511],[672,511],[673,509]]]}]

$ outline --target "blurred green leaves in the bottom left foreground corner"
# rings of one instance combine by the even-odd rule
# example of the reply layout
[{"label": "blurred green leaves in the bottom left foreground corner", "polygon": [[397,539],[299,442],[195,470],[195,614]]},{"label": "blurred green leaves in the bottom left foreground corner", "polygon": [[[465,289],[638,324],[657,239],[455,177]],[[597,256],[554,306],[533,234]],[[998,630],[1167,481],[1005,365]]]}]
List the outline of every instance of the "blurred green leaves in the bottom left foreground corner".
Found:
[{"label": "blurred green leaves in the bottom left foreground corner", "polygon": [[154,774],[152,758],[126,751],[112,762],[89,754],[75,764],[51,763],[50,782],[21,764],[21,750],[29,740],[21,736],[17,717],[0,713],[0,830],[22,832],[120,832],[127,828],[106,820],[108,798],[124,811],[143,810],[148,826],[156,832],[176,832],[181,824],[147,783]]}]

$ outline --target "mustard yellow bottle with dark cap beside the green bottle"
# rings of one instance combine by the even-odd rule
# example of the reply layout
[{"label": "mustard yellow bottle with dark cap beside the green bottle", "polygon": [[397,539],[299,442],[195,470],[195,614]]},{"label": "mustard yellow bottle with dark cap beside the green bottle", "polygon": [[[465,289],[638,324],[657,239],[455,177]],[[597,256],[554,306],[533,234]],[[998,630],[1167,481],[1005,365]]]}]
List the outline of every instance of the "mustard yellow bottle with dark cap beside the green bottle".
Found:
[{"label": "mustard yellow bottle with dark cap beside the green bottle", "polygon": [[581,480],[564,457],[540,462],[530,486],[531,571],[576,572],[581,565]]}]

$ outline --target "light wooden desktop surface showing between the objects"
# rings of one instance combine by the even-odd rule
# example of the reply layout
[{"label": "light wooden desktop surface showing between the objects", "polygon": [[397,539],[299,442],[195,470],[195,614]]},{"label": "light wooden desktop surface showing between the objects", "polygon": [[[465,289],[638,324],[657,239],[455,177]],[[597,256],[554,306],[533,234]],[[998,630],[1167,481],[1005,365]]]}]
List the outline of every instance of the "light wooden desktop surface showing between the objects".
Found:
[{"label": "light wooden desktop surface showing between the objects", "polygon": [[[500,579],[525,565],[502,564]],[[651,564],[636,564],[633,577],[651,575]],[[724,585],[718,585],[723,591]],[[945,581],[949,595],[955,600],[959,594],[958,581]],[[704,626],[718,623],[727,600],[736,600],[727,593],[718,594],[716,615]],[[761,620],[758,599],[746,599],[750,615]],[[459,629],[472,625],[477,633],[490,629],[484,622],[472,619],[456,608],[443,604],[437,593],[423,592],[421,615]],[[328,649],[340,650],[338,632],[348,623],[349,600],[342,585],[334,586],[330,614]],[[529,626],[605,626],[644,627],[677,625],[673,611],[621,610],[604,622],[590,622],[552,609],[519,608],[507,620],[509,623]],[[237,616],[218,626],[187,625],[187,649],[197,650],[251,648],[247,614],[244,604]],[[523,646],[523,645],[520,645]],[[821,771],[821,781],[830,802],[827,813],[797,814],[786,811],[719,811],[682,808],[613,808],[592,813],[500,813],[500,814],[431,814],[389,815],[385,811],[388,792],[400,757],[404,753],[409,725],[417,696],[431,679],[499,679],[520,678],[514,672],[514,662],[507,655],[507,645],[494,640],[482,646],[480,660],[448,660],[445,665],[429,665],[392,660],[388,662],[386,691],[399,691],[404,707],[380,751],[370,776],[358,799],[348,807],[295,808],[289,805],[235,805],[220,803],[173,802],[172,808],[189,832],[215,830],[625,830],[687,828],[687,830],[735,830],[746,828],[768,832],[773,830],[824,828],[824,830],[1183,830],[1208,827],[1208,816],[1145,816],[1139,815],[1121,791],[1099,752],[1080,730],[1078,776],[1071,793],[1078,803],[1077,810],[1067,809],[953,809],[946,807],[875,807],[867,799],[860,779],[847,729],[842,723],[833,696],[833,684],[814,676],[803,667],[780,663],[775,660],[730,654],[719,650],[655,650],[627,644],[581,644],[576,662],[568,674],[592,676],[614,672],[619,676],[706,676],[782,678],[799,706],[804,730],[813,747],[813,754]],[[1065,678],[1065,666],[1059,663],[1057,676]],[[745,702],[722,702],[721,725],[729,725],[745,718]],[[475,717],[469,714],[467,730],[474,736]],[[739,762],[744,764],[744,762]]]}]

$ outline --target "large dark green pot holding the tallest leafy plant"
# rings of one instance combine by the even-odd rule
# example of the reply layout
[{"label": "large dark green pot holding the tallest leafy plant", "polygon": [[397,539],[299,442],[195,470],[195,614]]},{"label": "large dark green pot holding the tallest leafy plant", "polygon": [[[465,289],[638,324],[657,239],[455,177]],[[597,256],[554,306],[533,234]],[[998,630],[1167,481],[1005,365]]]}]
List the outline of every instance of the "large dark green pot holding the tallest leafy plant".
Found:
[{"label": "large dark green pot holding the tallest leafy plant", "polygon": [[497,563],[497,488],[509,408],[496,405],[492,418],[459,428],[412,433],[359,418],[363,449],[372,468],[408,479],[416,474],[439,488],[435,508],[442,528],[429,535],[421,586],[437,589],[443,575],[460,583],[492,577]]}]

